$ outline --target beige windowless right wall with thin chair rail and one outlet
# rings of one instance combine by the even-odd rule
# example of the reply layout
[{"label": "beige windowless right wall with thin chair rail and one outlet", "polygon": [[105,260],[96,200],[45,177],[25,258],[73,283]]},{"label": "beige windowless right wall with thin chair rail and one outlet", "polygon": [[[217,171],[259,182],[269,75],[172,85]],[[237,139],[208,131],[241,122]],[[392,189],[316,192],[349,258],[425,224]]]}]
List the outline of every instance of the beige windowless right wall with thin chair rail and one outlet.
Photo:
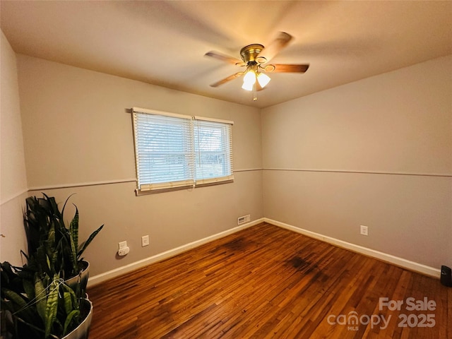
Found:
[{"label": "beige windowless right wall with thin chair rail and one outlet", "polygon": [[266,218],[451,266],[451,73],[444,57],[263,109]]}]

